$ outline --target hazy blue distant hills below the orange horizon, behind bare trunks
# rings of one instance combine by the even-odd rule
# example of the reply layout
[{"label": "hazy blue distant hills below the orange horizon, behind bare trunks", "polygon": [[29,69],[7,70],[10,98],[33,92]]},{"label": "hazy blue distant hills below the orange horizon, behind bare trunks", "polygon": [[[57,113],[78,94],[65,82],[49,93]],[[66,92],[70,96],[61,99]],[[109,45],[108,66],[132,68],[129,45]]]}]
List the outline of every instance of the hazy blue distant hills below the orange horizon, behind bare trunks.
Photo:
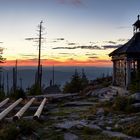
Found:
[{"label": "hazy blue distant hills below the orange horizon, behind bare trunks", "polygon": [[[75,68],[81,73],[83,67],[55,67],[55,83],[64,85],[65,82],[69,81],[73,75]],[[24,89],[30,87],[35,79],[34,75],[36,72],[36,67],[18,67],[18,86],[20,86],[20,78],[22,78],[22,86]],[[93,80],[97,77],[101,77],[103,73],[105,75],[111,75],[112,68],[99,68],[99,67],[85,67],[85,73],[89,80]],[[12,67],[4,68],[4,77],[5,77],[5,88],[6,88],[6,73],[9,75],[9,86],[12,86]],[[43,67],[43,77],[42,84],[48,86],[50,80],[52,79],[52,67]]]}]

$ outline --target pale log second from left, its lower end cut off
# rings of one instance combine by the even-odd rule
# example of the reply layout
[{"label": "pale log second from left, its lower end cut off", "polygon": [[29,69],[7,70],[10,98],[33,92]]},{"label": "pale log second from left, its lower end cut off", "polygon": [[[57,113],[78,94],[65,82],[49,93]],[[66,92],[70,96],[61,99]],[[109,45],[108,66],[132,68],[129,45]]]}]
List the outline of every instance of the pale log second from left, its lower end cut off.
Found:
[{"label": "pale log second from left, its lower end cut off", "polygon": [[6,108],[4,111],[0,113],[0,120],[2,120],[10,111],[13,110],[23,99],[20,98],[16,102],[14,102],[12,105],[10,105],[8,108]]}]

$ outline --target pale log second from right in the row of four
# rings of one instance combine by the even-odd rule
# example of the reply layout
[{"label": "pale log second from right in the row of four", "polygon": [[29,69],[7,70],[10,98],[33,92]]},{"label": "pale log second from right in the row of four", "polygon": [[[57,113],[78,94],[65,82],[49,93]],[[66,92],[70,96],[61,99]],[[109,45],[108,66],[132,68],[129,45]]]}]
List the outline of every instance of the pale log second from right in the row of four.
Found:
[{"label": "pale log second from right in the row of four", "polygon": [[30,105],[33,103],[35,98],[32,98],[27,104],[25,104],[13,117],[13,120],[18,120],[21,118],[21,116],[24,114],[24,112],[30,107]]}]

